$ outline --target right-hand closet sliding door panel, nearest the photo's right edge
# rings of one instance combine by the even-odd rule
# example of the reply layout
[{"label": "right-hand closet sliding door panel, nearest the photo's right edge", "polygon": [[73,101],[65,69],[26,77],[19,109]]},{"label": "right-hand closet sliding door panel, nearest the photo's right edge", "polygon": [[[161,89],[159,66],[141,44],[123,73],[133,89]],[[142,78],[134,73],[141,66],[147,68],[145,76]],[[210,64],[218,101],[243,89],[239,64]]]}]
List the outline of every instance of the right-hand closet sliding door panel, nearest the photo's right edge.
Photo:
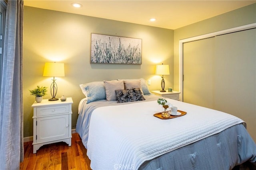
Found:
[{"label": "right-hand closet sliding door panel, nearest the photo's right edge", "polygon": [[215,37],[214,108],[240,117],[256,139],[256,29]]}]

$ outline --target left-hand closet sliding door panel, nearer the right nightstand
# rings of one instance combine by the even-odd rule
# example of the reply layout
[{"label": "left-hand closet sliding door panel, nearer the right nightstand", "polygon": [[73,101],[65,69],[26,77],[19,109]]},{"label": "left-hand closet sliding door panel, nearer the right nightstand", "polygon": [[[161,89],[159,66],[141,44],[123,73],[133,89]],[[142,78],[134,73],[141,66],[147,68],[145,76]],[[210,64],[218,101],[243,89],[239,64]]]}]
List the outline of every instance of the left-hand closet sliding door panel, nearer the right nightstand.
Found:
[{"label": "left-hand closet sliding door panel, nearer the right nightstand", "polygon": [[183,102],[213,107],[214,38],[183,44]]}]

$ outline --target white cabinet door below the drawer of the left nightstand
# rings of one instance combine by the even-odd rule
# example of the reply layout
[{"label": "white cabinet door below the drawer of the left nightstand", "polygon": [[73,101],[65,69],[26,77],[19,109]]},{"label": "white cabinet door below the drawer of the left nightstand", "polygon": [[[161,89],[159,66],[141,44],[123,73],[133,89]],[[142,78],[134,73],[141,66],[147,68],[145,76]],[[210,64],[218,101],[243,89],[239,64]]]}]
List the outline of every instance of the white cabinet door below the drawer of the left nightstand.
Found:
[{"label": "white cabinet door below the drawer of the left nightstand", "polygon": [[62,139],[69,135],[69,115],[39,117],[36,121],[36,143]]}]

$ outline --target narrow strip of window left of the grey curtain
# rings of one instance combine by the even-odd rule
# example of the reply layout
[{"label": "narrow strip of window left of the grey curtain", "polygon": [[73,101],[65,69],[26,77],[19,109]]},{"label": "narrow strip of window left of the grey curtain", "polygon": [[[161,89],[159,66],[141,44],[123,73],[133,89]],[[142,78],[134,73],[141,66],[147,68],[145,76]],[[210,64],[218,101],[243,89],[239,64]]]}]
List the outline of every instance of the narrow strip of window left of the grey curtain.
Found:
[{"label": "narrow strip of window left of the grey curtain", "polygon": [[[0,1],[0,89],[2,86],[2,68],[3,68],[3,53],[4,53],[4,28],[6,16],[6,1]],[[1,90],[0,90],[1,94]]]}]

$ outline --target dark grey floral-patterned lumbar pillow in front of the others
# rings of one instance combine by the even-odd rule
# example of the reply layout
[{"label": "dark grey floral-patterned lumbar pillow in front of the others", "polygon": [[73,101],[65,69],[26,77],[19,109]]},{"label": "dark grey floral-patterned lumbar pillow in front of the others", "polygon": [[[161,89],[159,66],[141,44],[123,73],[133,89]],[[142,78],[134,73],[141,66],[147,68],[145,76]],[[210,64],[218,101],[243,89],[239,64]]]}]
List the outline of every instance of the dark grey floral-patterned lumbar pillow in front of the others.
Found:
[{"label": "dark grey floral-patterned lumbar pillow in front of the others", "polygon": [[131,88],[126,90],[115,90],[117,103],[135,102],[146,100],[140,88]]}]

